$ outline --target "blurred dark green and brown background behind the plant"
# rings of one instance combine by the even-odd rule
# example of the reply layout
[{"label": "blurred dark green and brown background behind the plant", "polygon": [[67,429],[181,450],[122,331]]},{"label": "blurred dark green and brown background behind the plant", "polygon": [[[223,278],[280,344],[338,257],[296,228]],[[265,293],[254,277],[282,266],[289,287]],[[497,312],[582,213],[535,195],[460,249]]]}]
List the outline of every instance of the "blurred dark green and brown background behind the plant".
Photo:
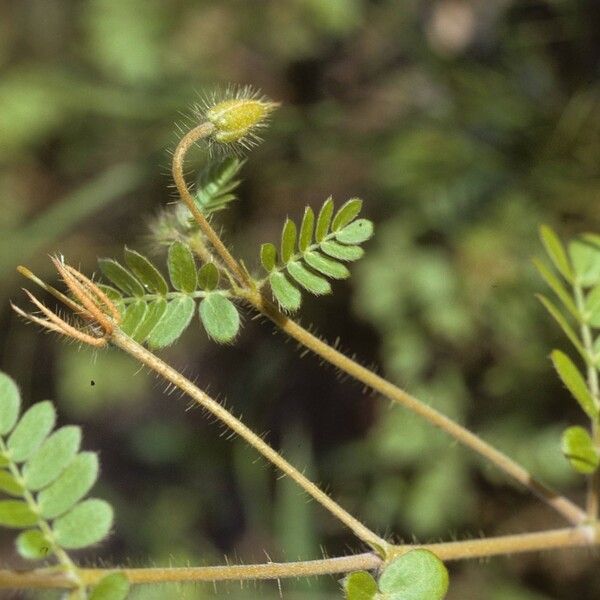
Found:
[{"label": "blurred dark green and brown background behind the plant", "polygon": [[[283,103],[248,156],[242,200],[220,217],[236,253],[256,266],[286,215],[363,197],[377,226],[366,258],[333,296],[307,299],[302,322],[582,498],[559,452],[579,411],[547,360],[566,344],[533,296],[530,258],[542,222],[563,237],[600,228],[600,3],[5,0],[0,68],[0,366],[30,402],[56,399],[100,452],[96,494],[114,503],[115,531],[82,562],[361,550],[126,357],[42,335],[9,310],[23,303],[19,263],[53,279],[48,253],[91,273],[124,243],[147,250],[149,219],[173,200],[176,124],[231,82]],[[300,360],[269,324],[247,318],[235,347],[196,327],[163,356],[378,532],[430,541],[561,525],[447,436]],[[2,563],[19,565],[13,536],[1,540]],[[450,600],[600,597],[586,551],[450,567]],[[339,597],[334,577],[281,587]],[[216,590],[279,597],[269,583]]]}]

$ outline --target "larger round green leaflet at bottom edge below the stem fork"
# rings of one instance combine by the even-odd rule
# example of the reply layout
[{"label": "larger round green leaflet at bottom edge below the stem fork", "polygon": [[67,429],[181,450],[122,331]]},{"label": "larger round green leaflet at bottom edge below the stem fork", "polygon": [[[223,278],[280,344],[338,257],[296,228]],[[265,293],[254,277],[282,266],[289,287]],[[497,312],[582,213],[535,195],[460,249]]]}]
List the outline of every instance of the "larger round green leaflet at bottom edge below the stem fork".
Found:
[{"label": "larger round green leaflet at bottom edge below the stem fork", "polygon": [[448,571],[433,552],[411,550],[384,569],[379,589],[390,599],[442,600],[448,591]]}]

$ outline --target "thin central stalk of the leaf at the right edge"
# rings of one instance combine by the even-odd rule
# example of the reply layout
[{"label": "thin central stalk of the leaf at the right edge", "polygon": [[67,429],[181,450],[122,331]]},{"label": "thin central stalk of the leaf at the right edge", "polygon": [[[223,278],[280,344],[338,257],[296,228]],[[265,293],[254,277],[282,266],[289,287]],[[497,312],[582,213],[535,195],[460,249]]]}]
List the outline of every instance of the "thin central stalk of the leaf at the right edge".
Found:
[{"label": "thin central stalk of the leaf at the right edge", "polygon": [[[575,304],[580,315],[585,313],[585,299],[581,286],[575,282],[573,284],[573,293],[575,296]],[[600,405],[600,385],[598,383],[598,371],[596,370],[594,356],[594,342],[590,326],[585,322],[585,319],[580,321],[581,341],[583,348],[586,351],[587,360],[587,384],[592,398],[594,398],[596,407]],[[600,450],[600,427],[597,420],[592,419],[592,440],[594,446]],[[586,497],[587,515],[590,521],[598,519],[600,511],[600,469],[596,469],[592,475],[588,477],[588,491]]]}]

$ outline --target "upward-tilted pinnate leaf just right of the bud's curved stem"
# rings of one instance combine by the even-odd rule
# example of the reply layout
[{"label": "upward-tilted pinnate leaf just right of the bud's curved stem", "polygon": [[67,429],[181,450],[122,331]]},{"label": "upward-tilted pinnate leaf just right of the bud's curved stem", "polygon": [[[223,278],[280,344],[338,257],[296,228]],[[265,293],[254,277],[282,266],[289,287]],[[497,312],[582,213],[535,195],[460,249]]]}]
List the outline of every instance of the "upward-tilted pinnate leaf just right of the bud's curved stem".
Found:
[{"label": "upward-tilted pinnate leaf just right of the bud's curved stem", "polygon": [[350,276],[343,263],[361,258],[360,244],[373,235],[373,223],[357,219],[361,208],[362,200],[352,198],[334,215],[333,199],[328,198],[316,217],[313,209],[306,207],[299,228],[291,219],[285,221],[279,252],[270,242],[261,246],[261,264],[283,310],[300,308],[302,289],[317,296],[329,294],[328,279]]}]

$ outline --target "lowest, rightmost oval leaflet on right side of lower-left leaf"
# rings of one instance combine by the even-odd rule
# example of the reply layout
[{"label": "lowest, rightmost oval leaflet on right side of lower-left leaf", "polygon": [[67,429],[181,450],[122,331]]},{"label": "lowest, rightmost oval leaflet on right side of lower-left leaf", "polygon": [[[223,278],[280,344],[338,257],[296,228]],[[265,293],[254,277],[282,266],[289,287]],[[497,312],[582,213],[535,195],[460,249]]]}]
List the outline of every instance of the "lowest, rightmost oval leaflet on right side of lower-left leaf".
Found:
[{"label": "lowest, rightmost oval leaflet on right side of lower-left leaf", "polygon": [[104,500],[90,498],[54,521],[52,530],[59,545],[76,550],[104,539],[113,522],[113,509]]}]

